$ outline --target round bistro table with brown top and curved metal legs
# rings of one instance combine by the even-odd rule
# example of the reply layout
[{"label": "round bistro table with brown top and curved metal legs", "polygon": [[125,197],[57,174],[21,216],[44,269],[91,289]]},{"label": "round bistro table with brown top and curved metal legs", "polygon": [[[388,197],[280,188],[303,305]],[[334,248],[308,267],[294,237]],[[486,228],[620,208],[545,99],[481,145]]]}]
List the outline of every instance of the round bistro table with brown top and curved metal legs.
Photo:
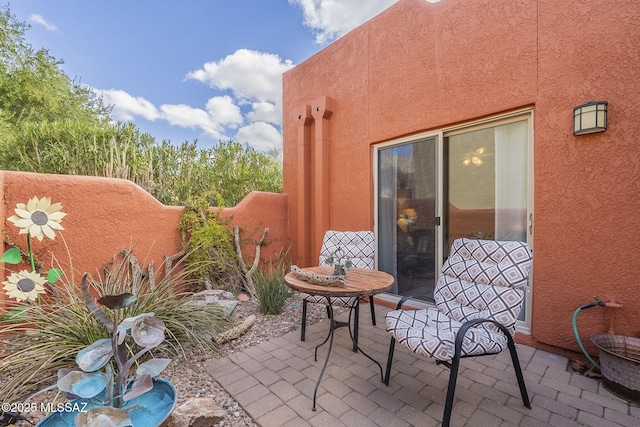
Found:
[{"label": "round bistro table with brown top and curved metal legs", "polygon": [[[333,273],[333,267],[308,267],[304,268],[305,272],[313,272],[320,275],[331,275]],[[370,270],[366,268],[352,268],[347,270],[347,276],[345,278],[344,286],[326,286],[326,285],[315,285],[313,283],[306,282],[296,276],[295,273],[288,273],[284,277],[287,285],[299,292],[304,292],[311,295],[325,297],[327,299],[327,307],[329,309],[329,317],[331,320],[331,327],[329,328],[329,335],[327,338],[316,347],[314,358],[317,360],[318,355],[318,347],[322,346],[324,343],[329,341],[329,349],[327,351],[327,357],[324,361],[324,365],[322,366],[322,370],[320,371],[320,376],[318,377],[318,381],[316,382],[316,388],[313,391],[313,410],[316,410],[316,395],[318,393],[318,387],[320,386],[320,381],[322,380],[322,376],[324,375],[324,371],[327,368],[327,364],[329,363],[329,356],[331,355],[331,348],[333,347],[333,334],[336,329],[336,321],[333,316],[333,307],[331,305],[331,298],[336,297],[354,297],[354,305],[349,309],[349,336],[351,336],[351,340],[353,341],[354,347],[360,350],[364,356],[369,358],[369,360],[373,361],[380,368],[380,377],[384,379],[384,375],[382,373],[382,365],[369,356],[367,353],[362,351],[361,348],[358,347],[358,342],[354,338],[351,333],[351,313],[356,304],[360,303],[360,298],[368,296],[372,298],[374,295],[386,292],[393,287],[393,276],[383,271],[378,270]]]}]

